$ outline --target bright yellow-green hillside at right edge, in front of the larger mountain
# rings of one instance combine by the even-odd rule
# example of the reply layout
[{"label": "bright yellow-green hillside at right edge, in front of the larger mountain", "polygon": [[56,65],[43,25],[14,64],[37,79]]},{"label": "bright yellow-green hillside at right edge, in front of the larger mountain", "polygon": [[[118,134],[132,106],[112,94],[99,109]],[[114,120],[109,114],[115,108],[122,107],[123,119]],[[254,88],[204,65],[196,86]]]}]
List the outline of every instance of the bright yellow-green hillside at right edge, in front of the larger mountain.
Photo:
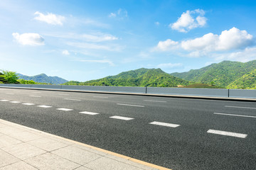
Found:
[{"label": "bright yellow-green hillside at right edge, in front of the larger mountain", "polygon": [[228,89],[256,89],[256,69],[229,84]]}]

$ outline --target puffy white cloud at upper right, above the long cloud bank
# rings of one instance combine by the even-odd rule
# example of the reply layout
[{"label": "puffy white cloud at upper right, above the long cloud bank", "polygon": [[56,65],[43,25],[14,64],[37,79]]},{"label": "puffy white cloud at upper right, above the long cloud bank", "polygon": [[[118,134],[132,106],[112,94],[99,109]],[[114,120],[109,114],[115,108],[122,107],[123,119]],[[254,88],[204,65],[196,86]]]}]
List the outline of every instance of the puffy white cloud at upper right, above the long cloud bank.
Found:
[{"label": "puffy white cloud at upper right, above the long cloud bank", "polygon": [[170,23],[169,27],[182,33],[187,33],[193,28],[203,27],[206,25],[207,18],[204,17],[205,11],[196,9],[194,11],[186,11],[182,13],[176,23]]}]

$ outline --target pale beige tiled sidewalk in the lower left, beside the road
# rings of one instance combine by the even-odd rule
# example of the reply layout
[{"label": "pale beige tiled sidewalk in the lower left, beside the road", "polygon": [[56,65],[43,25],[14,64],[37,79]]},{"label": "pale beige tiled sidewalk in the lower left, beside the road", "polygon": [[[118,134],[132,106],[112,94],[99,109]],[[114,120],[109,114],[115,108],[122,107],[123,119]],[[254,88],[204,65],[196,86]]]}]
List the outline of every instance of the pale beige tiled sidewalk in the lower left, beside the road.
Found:
[{"label": "pale beige tiled sidewalk in the lower left, beside the road", "polygon": [[167,170],[0,119],[0,170],[3,169]]}]

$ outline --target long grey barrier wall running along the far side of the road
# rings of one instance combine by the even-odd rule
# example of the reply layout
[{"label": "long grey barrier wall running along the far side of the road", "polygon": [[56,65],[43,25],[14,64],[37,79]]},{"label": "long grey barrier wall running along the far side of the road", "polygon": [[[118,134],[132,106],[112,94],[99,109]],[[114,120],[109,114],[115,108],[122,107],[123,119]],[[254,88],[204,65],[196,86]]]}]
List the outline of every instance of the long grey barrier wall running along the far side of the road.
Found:
[{"label": "long grey barrier wall running along the far side of the road", "polygon": [[67,86],[42,84],[0,84],[0,87],[24,89],[56,89],[76,91],[109,91],[136,94],[171,94],[179,96],[209,96],[225,98],[256,98],[256,90],[245,89],[193,89],[169,87],[132,87],[132,86]]}]

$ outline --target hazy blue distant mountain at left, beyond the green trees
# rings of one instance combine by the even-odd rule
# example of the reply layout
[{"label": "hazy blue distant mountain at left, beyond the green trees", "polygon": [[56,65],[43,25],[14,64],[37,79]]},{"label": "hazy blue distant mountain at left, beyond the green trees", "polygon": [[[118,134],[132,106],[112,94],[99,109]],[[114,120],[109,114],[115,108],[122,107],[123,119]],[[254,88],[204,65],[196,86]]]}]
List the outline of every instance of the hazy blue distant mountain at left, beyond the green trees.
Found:
[{"label": "hazy blue distant mountain at left, beyond the green trees", "polygon": [[63,84],[65,82],[68,82],[65,79],[62,79],[60,77],[48,77],[46,74],[38,74],[33,77],[28,77],[23,74],[18,74],[19,79],[25,79],[25,80],[33,80],[38,83],[46,83],[46,84]]}]

